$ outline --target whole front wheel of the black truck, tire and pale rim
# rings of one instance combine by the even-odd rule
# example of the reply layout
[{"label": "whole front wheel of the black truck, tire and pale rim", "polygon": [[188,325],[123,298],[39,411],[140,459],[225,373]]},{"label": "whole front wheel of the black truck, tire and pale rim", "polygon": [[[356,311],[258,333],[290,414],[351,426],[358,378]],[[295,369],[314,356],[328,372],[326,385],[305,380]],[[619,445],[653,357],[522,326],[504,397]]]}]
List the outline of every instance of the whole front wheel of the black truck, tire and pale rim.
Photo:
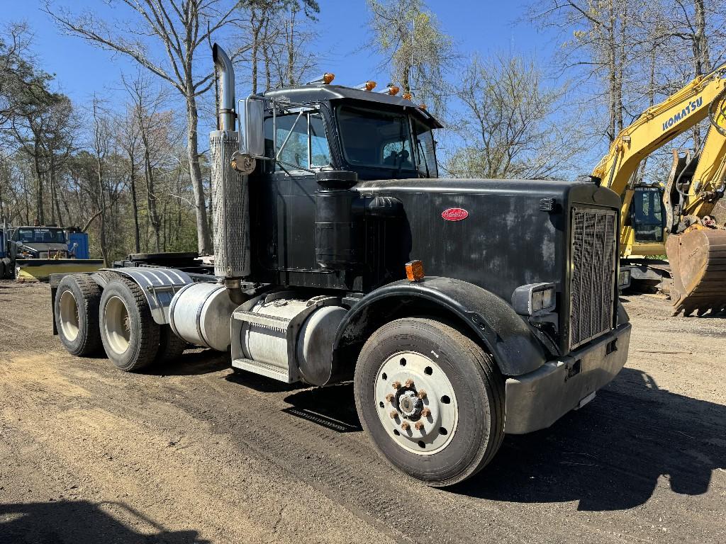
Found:
[{"label": "whole front wheel of the black truck, tire and pale rim", "polygon": [[504,438],[504,379],[470,338],[426,318],[375,331],[354,377],[356,408],[375,448],[428,485],[472,477]]}]

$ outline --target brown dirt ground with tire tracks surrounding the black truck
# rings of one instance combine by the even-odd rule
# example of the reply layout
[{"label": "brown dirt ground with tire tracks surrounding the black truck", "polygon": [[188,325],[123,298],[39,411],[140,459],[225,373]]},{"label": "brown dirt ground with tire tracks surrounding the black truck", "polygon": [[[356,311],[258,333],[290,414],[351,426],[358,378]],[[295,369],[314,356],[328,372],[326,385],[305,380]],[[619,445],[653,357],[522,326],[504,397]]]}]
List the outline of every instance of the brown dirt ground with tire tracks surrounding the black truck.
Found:
[{"label": "brown dirt ground with tire tracks surrounding the black truck", "polygon": [[375,455],[349,386],[200,350],[124,374],[62,350],[47,286],[0,282],[0,543],[726,543],[726,320],[627,298],[610,386],[434,490]]}]

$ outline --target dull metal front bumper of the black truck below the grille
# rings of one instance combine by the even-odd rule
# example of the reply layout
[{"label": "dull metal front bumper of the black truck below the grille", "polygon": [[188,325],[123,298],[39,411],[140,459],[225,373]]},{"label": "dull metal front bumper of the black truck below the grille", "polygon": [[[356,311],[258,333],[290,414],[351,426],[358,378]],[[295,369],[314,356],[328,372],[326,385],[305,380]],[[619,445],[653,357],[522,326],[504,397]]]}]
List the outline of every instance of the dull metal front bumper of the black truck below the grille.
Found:
[{"label": "dull metal front bumper of the black truck below the grille", "polygon": [[630,329],[630,323],[624,323],[566,357],[507,379],[505,432],[544,429],[592,400],[623,368]]}]

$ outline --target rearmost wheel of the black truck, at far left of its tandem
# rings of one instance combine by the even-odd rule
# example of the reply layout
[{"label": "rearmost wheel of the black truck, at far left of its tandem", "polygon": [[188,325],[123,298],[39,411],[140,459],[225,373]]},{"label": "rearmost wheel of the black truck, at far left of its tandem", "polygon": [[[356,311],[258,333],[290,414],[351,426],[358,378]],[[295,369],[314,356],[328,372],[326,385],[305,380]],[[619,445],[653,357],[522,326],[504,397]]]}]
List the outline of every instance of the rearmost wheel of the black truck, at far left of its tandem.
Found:
[{"label": "rearmost wheel of the black truck, at far left of its tandem", "polygon": [[101,289],[86,274],[61,279],[53,308],[58,336],[71,355],[93,355],[99,351],[98,308]]}]

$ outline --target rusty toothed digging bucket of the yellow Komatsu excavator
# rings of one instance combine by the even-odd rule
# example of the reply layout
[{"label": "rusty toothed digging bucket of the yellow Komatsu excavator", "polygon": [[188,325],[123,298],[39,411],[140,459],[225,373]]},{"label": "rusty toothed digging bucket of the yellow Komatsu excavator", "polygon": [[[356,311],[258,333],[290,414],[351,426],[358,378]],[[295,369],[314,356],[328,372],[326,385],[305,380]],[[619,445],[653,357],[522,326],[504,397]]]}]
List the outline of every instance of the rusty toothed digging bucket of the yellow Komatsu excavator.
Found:
[{"label": "rusty toothed digging bucket of the yellow Komatsu excavator", "polygon": [[726,230],[698,228],[671,234],[666,254],[673,279],[674,316],[726,310]]}]

